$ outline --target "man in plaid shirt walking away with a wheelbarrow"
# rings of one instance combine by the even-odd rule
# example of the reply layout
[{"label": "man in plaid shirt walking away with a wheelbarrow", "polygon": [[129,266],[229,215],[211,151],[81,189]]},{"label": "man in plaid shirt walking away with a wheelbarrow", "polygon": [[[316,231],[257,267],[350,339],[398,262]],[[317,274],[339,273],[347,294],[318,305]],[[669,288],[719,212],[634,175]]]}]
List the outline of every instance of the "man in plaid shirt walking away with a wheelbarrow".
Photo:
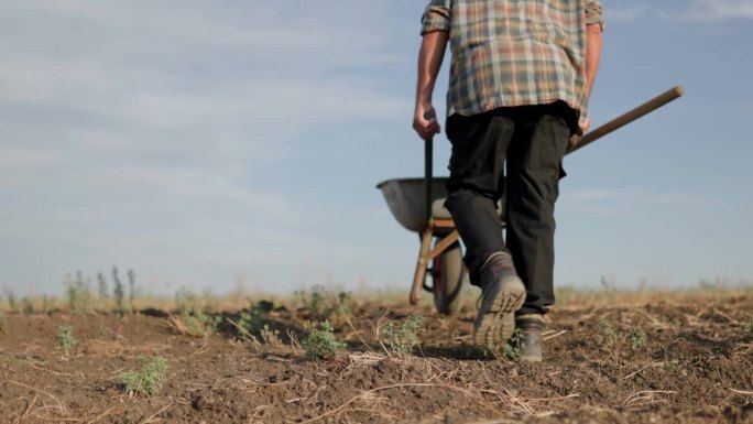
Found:
[{"label": "man in plaid shirt walking away with a wheelbarrow", "polygon": [[446,206],[481,287],[473,343],[500,346],[517,327],[524,361],[542,360],[561,159],[589,126],[602,28],[599,0],[430,0],[422,19],[413,128],[440,131],[432,94],[449,41]]}]

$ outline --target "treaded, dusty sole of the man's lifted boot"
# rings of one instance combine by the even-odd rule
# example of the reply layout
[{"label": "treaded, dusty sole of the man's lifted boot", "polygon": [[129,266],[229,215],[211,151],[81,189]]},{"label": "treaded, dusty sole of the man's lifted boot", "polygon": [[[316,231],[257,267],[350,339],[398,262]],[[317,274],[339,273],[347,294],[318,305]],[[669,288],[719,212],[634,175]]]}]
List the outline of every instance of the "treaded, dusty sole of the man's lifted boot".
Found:
[{"label": "treaded, dusty sole of the man's lifted boot", "polygon": [[515,311],[525,302],[525,286],[517,280],[503,284],[487,311],[479,311],[473,323],[473,344],[501,346],[515,333]]}]

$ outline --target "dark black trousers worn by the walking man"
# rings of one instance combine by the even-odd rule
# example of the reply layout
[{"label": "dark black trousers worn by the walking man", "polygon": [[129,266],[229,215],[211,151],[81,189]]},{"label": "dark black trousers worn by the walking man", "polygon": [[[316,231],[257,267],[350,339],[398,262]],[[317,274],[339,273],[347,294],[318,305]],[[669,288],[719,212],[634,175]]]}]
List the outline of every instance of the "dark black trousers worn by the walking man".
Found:
[{"label": "dark black trousers worn by the walking man", "polygon": [[446,206],[467,249],[471,283],[479,285],[491,253],[510,252],[527,291],[519,313],[546,313],[555,301],[554,209],[576,126],[576,111],[561,101],[447,119],[452,154]]}]

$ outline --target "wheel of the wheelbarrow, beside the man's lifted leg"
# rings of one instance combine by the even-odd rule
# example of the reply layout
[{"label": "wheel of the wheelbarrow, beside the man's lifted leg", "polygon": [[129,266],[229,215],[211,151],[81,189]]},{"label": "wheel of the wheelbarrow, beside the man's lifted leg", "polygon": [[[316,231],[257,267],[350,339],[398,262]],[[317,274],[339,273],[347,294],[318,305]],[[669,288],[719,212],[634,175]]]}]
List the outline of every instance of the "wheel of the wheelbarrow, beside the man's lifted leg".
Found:
[{"label": "wheel of the wheelbarrow, beside the man's lifted leg", "polygon": [[460,243],[456,242],[436,257],[432,264],[434,305],[439,314],[455,315],[460,309],[462,274],[462,253]]}]

